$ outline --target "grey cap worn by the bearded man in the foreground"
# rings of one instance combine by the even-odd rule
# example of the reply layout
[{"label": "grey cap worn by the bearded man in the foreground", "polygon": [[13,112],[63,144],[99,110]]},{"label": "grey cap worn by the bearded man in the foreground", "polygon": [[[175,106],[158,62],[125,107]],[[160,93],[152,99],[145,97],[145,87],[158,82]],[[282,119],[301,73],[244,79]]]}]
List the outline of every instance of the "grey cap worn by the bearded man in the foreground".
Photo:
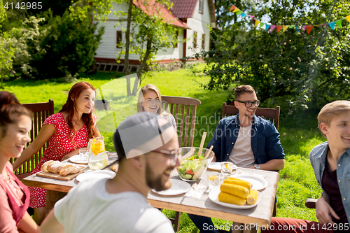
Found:
[{"label": "grey cap worn by the bearded man in the foreground", "polygon": [[118,160],[125,155],[130,158],[128,153],[132,149],[141,149],[139,155],[142,155],[172,139],[172,136],[162,135],[167,128],[172,127],[172,124],[167,121],[165,125],[160,126],[160,118],[167,120],[156,113],[149,112],[136,113],[125,119],[113,134]]}]

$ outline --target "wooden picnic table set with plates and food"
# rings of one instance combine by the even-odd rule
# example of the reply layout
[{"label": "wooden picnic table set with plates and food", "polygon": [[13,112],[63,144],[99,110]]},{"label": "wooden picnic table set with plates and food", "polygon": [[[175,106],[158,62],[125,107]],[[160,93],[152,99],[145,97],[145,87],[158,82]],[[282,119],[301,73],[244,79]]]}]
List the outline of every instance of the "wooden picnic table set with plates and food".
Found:
[{"label": "wooden picnic table set with plates and food", "polygon": [[[251,209],[232,209],[218,205],[209,199],[207,192],[204,192],[200,199],[184,197],[184,195],[164,196],[150,192],[148,194],[148,202],[152,206],[161,209],[193,213],[200,216],[230,220],[235,223],[246,223],[247,225],[269,225],[271,223],[272,212],[274,209],[274,201],[276,197],[277,183],[279,181],[279,174],[274,171],[243,168],[239,168],[237,171],[265,176],[265,180],[267,181],[267,187],[265,190],[260,191],[260,202],[257,206]],[[207,177],[208,174],[218,174],[217,171],[209,170],[207,170],[206,173],[207,174],[204,174],[204,177]],[[173,171],[171,175],[172,178],[179,179],[179,175],[177,175],[176,171]],[[35,174],[24,178],[22,182],[27,186],[44,188],[48,190],[46,197],[47,214],[53,208],[55,202],[57,202],[58,199],[64,197],[64,195],[66,195],[66,192],[69,192],[71,188],[78,184],[76,178],[71,181],[60,181],[52,178],[36,176]],[[202,178],[202,180],[197,181],[197,183],[208,185],[208,180],[207,178]],[[190,185],[193,185],[193,183],[190,183]],[[256,232],[256,230],[250,230],[248,232]]]}]

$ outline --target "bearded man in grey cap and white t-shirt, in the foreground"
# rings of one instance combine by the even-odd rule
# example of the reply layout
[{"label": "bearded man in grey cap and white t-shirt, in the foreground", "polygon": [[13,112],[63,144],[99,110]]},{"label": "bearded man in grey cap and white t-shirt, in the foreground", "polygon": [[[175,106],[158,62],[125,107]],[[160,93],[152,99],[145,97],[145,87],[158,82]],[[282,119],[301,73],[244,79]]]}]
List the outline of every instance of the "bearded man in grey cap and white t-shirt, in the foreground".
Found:
[{"label": "bearded man in grey cap and white t-shirt, in the foreground", "polygon": [[79,183],[55,204],[41,232],[174,232],[147,202],[151,189],[171,187],[170,172],[180,165],[174,127],[155,113],[137,113],[120,124],[113,143],[116,176]]}]

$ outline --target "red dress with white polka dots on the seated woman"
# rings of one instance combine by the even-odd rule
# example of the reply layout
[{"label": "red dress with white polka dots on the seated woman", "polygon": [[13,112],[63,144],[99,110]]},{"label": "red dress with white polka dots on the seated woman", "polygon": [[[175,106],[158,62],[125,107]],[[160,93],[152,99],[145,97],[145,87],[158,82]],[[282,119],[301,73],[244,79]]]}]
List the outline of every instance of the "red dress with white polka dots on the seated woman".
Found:
[{"label": "red dress with white polka dots on the seated woman", "polygon": [[[94,122],[97,119],[95,115],[92,115],[92,118],[94,119]],[[44,151],[43,157],[41,158],[39,164],[36,166],[34,171],[31,172],[31,174],[36,174],[37,172],[41,171],[41,166],[48,160],[61,161],[64,155],[70,153],[76,148],[86,147],[87,143],[89,142],[89,140],[87,139],[88,132],[86,125],[79,129],[78,132],[76,132],[76,134],[73,136],[72,141],[76,143],[76,145],[69,141],[69,132],[71,130],[69,129],[68,125],[66,125],[62,113],[50,115],[45,120],[45,122],[43,122],[43,125],[45,124],[55,125],[56,131],[50,137],[48,148],[46,148],[46,150]],[[71,135],[72,134],[73,132],[71,132]],[[38,207],[45,207],[46,190],[43,188],[34,187],[28,188],[30,190],[29,206],[34,209]]]}]

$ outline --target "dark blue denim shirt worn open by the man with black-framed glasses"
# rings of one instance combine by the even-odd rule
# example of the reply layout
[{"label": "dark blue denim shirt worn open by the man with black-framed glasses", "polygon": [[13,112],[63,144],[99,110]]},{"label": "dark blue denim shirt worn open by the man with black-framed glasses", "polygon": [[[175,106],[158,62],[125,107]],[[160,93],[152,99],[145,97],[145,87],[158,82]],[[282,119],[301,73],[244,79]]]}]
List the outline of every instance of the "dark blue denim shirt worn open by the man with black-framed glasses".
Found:
[{"label": "dark blue denim shirt worn open by the man with black-framed glasses", "polygon": [[[215,133],[207,148],[214,146],[213,151],[218,162],[228,160],[239,132],[238,115],[223,118],[218,123]],[[284,159],[283,148],[279,141],[279,132],[269,120],[254,115],[251,125],[251,149],[255,164],[265,164],[269,160]]]}]

